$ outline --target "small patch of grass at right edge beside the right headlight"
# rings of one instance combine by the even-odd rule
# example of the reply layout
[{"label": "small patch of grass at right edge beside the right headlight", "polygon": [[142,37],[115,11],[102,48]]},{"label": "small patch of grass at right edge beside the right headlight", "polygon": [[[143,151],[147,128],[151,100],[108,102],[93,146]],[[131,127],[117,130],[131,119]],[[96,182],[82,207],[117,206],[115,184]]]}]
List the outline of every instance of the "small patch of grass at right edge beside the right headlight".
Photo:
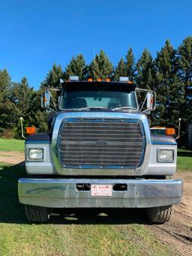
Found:
[{"label": "small patch of grass at right edge beside the right headlight", "polygon": [[178,171],[192,171],[192,151],[187,149],[178,149],[177,157]]}]

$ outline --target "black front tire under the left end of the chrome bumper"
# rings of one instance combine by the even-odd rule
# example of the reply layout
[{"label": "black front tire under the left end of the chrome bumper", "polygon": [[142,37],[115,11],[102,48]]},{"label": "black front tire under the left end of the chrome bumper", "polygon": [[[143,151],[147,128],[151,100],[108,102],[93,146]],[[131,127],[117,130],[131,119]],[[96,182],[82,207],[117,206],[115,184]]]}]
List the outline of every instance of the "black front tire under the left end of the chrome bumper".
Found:
[{"label": "black front tire under the left end of the chrome bumper", "polygon": [[25,204],[25,213],[30,222],[40,223],[49,220],[49,210],[46,207]]}]

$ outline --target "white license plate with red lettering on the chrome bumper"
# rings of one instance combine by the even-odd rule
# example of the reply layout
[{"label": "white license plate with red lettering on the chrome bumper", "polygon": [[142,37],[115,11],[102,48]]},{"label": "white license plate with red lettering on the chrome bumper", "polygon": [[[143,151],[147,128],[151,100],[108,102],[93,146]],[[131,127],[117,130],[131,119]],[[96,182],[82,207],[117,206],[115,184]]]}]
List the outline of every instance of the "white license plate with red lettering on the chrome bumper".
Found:
[{"label": "white license plate with red lettering on the chrome bumper", "polygon": [[91,185],[91,195],[93,197],[111,197],[112,185]]}]

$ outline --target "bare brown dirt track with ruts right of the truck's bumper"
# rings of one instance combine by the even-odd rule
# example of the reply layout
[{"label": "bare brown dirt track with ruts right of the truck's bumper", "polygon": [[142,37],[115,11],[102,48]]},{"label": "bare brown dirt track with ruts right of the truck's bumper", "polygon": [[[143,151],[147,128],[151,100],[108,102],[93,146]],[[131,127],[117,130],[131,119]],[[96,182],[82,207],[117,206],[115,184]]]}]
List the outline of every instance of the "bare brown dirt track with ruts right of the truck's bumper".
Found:
[{"label": "bare brown dirt track with ruts right of the truck's bumper", "polygon": [[192,173],[178,173],[175,178],[184,181],[181,204],[173,206],[169,222],[146,227],[176,255],[192,255]]}]

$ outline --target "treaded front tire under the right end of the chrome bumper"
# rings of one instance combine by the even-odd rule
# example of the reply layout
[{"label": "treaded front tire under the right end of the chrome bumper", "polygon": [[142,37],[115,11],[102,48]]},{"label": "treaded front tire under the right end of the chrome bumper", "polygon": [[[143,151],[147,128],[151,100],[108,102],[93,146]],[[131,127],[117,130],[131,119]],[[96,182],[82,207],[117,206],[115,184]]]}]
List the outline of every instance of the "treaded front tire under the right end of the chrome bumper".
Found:
[{"label": "treaded front tire under the right end of the chrome bumper", "polygon": [[169,221],[171,212],[172,206],[159,206],[146,209],[148,219],[154,223],[165,223]]}]

